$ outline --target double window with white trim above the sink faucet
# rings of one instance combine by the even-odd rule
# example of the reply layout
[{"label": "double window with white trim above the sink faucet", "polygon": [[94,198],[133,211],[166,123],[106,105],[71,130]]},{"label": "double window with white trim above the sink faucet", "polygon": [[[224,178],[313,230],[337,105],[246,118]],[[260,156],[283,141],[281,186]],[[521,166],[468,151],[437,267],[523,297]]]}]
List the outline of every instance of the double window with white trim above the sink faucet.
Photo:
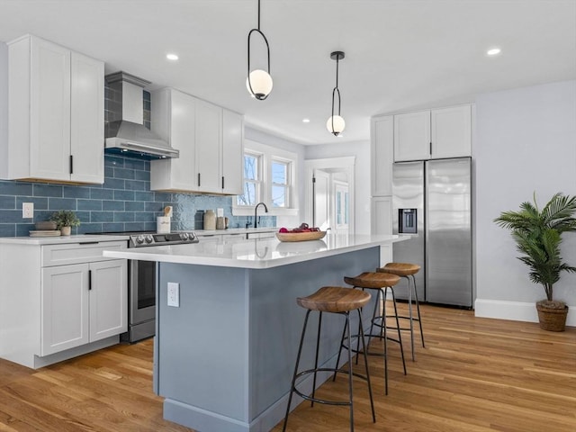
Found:
[{"label": "double window with white trim above the sink faucet", "polygon": [[258,202],[265,202],[271,216],[297,215],[297,157],[295,153],[282,148],[246,139],[244,193],[233,201],[232,214],[251,216],[254,214],[254,206]]}]

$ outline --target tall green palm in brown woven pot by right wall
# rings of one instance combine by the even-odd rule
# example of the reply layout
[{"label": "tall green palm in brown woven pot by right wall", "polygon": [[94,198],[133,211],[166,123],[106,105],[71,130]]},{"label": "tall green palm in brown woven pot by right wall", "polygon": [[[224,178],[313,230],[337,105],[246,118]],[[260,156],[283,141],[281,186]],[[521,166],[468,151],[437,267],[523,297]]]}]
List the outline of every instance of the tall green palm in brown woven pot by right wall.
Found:
[{"label": "tall green palm in brown woven pot by right wall", "polygon": [[546,299],[536,302],[540,328],[563,331],[568,315],[565,302],[554,300],[554,284],[562,272],[576,273],[576,267],[563,262],[560,245],[564,232],[576,231],[576,196],[555,193],[542,210],[536,203],[522,202],[519,211],[502,211],[494,221],[510,229],[516,241],[518,259],[529,269],[530,281],[542,284]]}]

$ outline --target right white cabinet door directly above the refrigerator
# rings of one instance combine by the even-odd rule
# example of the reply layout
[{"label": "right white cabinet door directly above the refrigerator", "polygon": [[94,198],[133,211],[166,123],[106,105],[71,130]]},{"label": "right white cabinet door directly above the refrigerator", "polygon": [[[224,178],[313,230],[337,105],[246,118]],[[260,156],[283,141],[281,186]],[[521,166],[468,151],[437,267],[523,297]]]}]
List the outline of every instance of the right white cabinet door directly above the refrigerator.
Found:
[{"label": "right white cabinet door directly above the refrigerator", "polygon": [[472,156],[472,107],[432,110],[432,158]]}]

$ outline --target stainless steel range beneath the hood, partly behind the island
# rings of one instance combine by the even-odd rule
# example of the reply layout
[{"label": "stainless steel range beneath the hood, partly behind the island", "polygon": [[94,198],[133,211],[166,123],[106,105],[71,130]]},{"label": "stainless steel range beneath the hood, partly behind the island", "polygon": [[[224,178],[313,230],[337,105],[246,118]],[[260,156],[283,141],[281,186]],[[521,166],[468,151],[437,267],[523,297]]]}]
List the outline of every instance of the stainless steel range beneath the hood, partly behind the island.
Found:
[{"label": "stainless steel range beneath the hood, partly behind the island", "polygon": [[[130,236],[128,247],[152,247],[198,243],[192,231],[157,234],[156,232],[103,232]],[[156,333],[157,263],[130,260],[128,262],[128,332],[121,335],[124,342],[137,342]]]}]

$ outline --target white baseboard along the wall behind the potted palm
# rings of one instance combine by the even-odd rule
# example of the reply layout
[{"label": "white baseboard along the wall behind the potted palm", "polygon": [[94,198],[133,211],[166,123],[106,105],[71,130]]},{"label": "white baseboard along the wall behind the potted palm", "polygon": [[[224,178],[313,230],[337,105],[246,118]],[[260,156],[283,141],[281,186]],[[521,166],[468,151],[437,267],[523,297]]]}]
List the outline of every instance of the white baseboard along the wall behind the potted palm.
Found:
[{"label": "white baseboard along the wall behind the potted palm", "polygon": [[[569,305],[568,307],[566,325],[576,327],[576,306]],[[477,317],[482,318],[538,322],[535,303],[476,299],[474,311]]]}]

